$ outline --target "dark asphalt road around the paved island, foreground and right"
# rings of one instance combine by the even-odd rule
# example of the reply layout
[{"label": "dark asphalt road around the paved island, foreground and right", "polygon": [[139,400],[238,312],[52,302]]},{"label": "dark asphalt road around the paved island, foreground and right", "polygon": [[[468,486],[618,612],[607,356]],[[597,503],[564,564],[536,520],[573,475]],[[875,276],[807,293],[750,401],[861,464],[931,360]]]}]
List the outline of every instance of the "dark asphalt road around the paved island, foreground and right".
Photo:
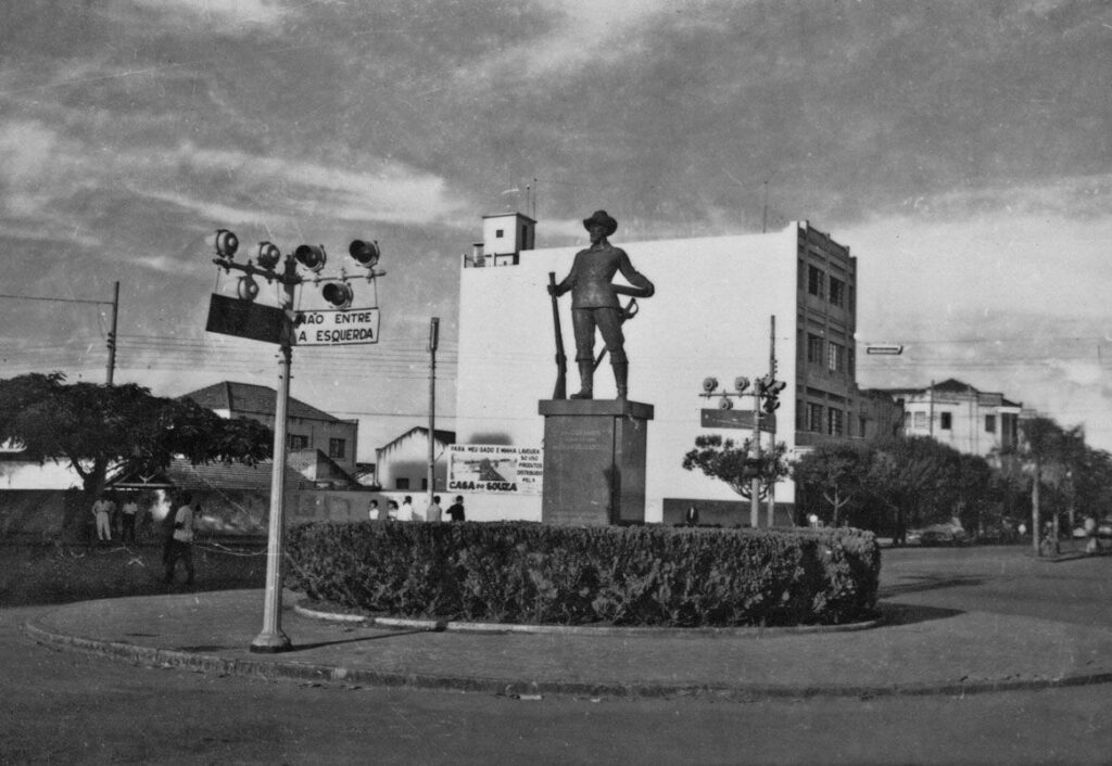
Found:
[{"label": "dark asphalt road around the paved island, foreground and right", "polygon": [[[898,603],[1110,625],[1110,567],[1112,557],[885,551],[884,588]],[[0,610],[3,764],[1112,762],[1108,685],[751,704],[315,687],[48,649],[19,628],[37,613]]]}]

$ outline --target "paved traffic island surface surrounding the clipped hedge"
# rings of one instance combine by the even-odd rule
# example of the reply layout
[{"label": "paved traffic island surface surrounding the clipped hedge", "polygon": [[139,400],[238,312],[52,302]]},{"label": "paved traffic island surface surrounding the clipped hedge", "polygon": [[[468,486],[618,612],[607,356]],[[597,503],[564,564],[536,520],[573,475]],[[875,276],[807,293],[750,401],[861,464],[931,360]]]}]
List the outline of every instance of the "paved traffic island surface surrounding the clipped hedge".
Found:
[{"label": "paved traffic island surface surrounding the clipped hedge", "polygon": [[395,685],[490,694],[970,694],[1112,682],[1112,630],[931,607],[884,606],[860,630],[784,633],[585,630],[474,633],[328,621],[296,610],[294,648],[249,651],[262,591],[227,590],[85,601],[26,626],[36,640],[193,670],[267,679]]}]

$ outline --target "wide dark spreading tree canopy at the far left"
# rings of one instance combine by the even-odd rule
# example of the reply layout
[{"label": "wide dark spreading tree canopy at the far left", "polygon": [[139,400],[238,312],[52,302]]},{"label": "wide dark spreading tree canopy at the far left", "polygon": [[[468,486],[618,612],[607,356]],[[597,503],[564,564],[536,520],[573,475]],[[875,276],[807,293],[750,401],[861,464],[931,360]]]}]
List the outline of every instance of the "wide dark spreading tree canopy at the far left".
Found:
[{"label": "wide dark spreading tree canopy at the far left", "polygon": [[225,419],[135,384],[64,380],[61,372],[0,380],[0,442],[18,444],[40,464],[68,460],[88,493],[100,490],[108,472],[156,474],[175,457],[254,465],[271,455],[271,431],[255,420]]}]

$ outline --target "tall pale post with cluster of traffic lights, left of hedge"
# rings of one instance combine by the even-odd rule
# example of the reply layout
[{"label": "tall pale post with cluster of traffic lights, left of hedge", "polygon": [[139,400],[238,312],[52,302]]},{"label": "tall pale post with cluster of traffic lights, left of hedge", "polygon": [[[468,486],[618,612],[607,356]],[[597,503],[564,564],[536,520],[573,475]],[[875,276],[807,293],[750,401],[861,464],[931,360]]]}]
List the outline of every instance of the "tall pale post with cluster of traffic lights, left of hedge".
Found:
[{"label": "tall pale post with cluster of traffic lights, left of hedge", "polygon": [[[239,240],[232,232],[219,229],[212,239],[212,245],[216,250],[216,258],[212,262],[226,272],[240,271],[244,276],[239,278],[236,287],[238,301],[231,301],[230,307],[226,302],[221,302],[221,308],[217,311],[216,299],[219,296],[212,297],[214,304],[210,306],[208,329],[278,344],[278,390],[275,399],[274,466],[270,475],[270,518],[267,527],[267,579],[264,595],[262,630],[249,647],[251,651],[272,654],[286,651],[291,646],[289,637],[281,629],[281,564],[282,538],[286,528],[286,421],[289,409],[295,328],[300,324],[300,316],[294,310],[297,305],[297,288],[306,281],[322,285],[321,297],[334,307],[334,311],[342,312],[351,307],[354,291],[350,282],[356,278],[349,277],[342,269],[339,277],[321,277],[320,271],[328,259],[322,246],[300,245],[292,255],[287,255],[282,260],[281,252],[275,245],[260,242],[254,250],[254,260],[248,259],[246,263],[238,263],[232,258],[239,247]],[[386,273],[375,268],[379,259],[377,242],[357,239],[351,242],[348,253],[357,263],[367,269],[366,280],[368,282],[374,282],[376,278]],[[277,270],[279,262],[282,262],[281,271]],[[312,276],[302,277],[298,273],[298,266],[310,271]],[[259,286],[255,277],[281,286],[280,308],[254,305],[254,300],[259,294]],[[377,308],[374,310],[374,316],[377,318]],[[345,324],[348,327],[351,326],[350,322]],[[339,342],[377,342],[377,321],[374,330],[368,331],[371,335],[369,340],[365,340],[364,334],[360,332],[357,340]]]}]

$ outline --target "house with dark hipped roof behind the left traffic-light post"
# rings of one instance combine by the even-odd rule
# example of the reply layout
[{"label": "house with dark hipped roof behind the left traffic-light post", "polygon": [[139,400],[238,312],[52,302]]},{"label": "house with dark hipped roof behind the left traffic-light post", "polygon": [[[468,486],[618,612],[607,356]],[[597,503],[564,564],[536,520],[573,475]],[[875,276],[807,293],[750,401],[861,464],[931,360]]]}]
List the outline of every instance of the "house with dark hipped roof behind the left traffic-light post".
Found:
[{"label": "house with dark hipped roof behind the left traffic-light post", "polygon": [[[225,380],[185,394],[201,407],[224,418],[250,418],[275,427],[277,392],[267,386]],[[290,397],[286,419],[286,446],[294,452],[316,449],[326,455],[349,477],[356,475],[358,420],[341,420],[311,405]]]}]

